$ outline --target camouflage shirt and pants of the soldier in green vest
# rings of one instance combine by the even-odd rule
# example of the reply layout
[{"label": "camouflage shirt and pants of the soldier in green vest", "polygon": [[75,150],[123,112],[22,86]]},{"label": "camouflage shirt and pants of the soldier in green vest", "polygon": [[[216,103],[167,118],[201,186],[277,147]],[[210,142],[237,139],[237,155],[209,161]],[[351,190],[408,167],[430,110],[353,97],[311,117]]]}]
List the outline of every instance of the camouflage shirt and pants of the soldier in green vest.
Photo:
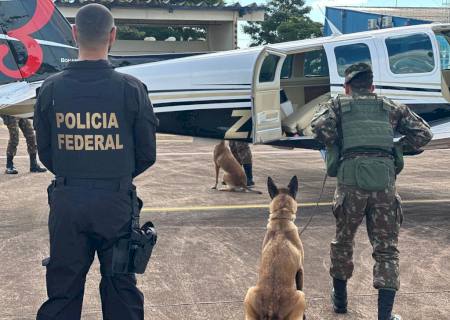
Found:
[{"label": "camouflage shirt and pants of the soldier in green vest", "polygon": [[[375,94],[354,92],[353,98],[374,99]],[[381,98],[381,97],[380,97]],[[404,150],[418,150],[432,138],[428,124],[409,110],[383,98],[391,107],[389,114],[395,132],[404,135],[398,142]],[[340,143],[340,111],[337,99],[321,106],[312,120],[316,138],[325,145]],[[346,160],[343,160],[346,161]],[[353,273],[353,247],[356,231],[366,217],[367,232],[373,247],[373,285],[377,289],[398,290],[399,251],[398,234],[402,223],[401,200],[396,193],[395,182],[383,191],[371,192],[338,182],[333,204],[336,217],[336,237],[331,243],[330,274],[335,279],[347,280]]]}]

